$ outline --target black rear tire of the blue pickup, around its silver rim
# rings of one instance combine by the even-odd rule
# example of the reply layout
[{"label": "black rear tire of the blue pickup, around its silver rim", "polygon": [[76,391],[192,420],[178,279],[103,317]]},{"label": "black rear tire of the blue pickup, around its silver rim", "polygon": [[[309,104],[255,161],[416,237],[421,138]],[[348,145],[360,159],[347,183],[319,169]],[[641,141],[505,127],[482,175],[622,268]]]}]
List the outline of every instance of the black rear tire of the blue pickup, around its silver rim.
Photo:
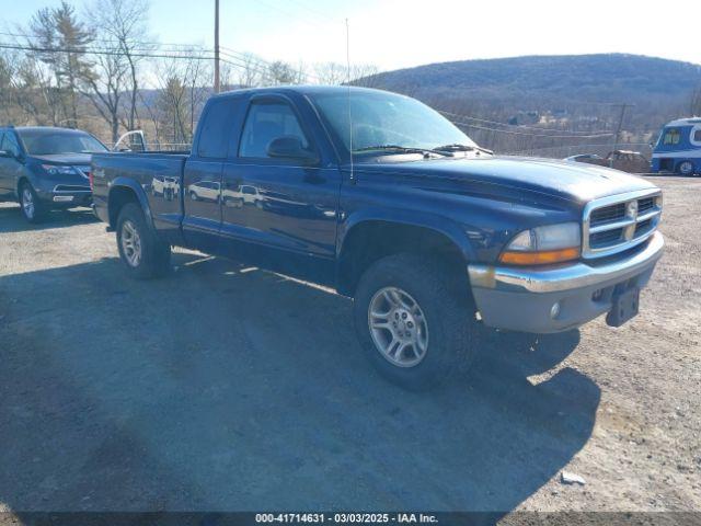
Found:
[{"label": "black rear tire of the blue pickup, around its silver rim", "polygon": [[[139,241],[140,256],[138,262],[127,255],[124,238],[133,237],[135,230]],[[117,248],[119,259],[127,273],[137,279],[159,277],[168,273],[171,261],[171,247],[146,222],[141,207],[136,203],[127,203],[119,211],[117,219]]]}]

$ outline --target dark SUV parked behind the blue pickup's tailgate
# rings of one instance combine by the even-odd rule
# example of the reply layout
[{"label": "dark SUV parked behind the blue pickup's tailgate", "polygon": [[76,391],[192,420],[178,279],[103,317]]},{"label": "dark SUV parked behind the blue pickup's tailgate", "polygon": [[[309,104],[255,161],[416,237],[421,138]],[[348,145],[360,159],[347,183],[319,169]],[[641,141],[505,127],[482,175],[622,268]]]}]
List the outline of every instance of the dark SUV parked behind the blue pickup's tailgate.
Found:
[{"label": "dark SUV parked behind the blue pickup's tailgate", "polygon": [[54,127],[0,128],[0,201],[16,201],[39,222],[54,208],[90,206],[90,160],[107,151],[87,132]]}]

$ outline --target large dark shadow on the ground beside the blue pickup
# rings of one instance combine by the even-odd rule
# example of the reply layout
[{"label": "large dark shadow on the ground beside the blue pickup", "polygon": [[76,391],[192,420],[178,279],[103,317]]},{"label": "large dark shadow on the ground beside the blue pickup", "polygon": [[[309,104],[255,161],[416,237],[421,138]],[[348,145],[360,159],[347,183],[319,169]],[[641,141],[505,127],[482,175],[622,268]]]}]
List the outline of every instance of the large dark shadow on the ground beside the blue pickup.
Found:
[{"label": "large dark shadow on the ground beside the blue pickup", "polygon": [[20,518],[506,513],[591,434],[600,391],[588,377],[527,378],[566,357],[577,332],[536,351],[492,335],[470,376],[410,393],[360,355],[348,300],[174,259],[154,282],[127,279],[115,259],[0,277],[0,503]]}]

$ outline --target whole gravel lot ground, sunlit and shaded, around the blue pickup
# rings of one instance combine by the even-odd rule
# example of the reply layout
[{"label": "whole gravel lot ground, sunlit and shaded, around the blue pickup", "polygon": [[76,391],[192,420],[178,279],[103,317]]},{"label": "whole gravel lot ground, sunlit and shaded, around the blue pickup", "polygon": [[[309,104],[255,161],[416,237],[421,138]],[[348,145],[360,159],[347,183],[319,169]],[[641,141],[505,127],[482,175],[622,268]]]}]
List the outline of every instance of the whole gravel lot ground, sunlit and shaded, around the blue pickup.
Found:
[{"label": "whole gravel lot ground, sunlit and shaded, around the blue pickup", "polygon": [[0,510],[701,510],[701,181],[654,180],[636,319],[484,334],[424,395],[369,368],[347,299],[183,250],[133,282],[89,213],[0,205]]}]

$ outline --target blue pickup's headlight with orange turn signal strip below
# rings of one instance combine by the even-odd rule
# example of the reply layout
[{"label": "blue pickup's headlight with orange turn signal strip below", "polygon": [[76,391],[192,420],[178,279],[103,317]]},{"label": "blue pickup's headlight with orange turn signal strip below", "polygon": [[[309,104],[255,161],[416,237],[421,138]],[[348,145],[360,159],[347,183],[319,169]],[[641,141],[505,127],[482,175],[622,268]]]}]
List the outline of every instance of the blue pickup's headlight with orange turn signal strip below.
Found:
[{"label": "blue pickup's headlight with orange turn signal strip below", "polygon": [[506,245],[499,261],[510,265],[541,265],[579,258],[578,222],[563,222],[524,230]]}]

